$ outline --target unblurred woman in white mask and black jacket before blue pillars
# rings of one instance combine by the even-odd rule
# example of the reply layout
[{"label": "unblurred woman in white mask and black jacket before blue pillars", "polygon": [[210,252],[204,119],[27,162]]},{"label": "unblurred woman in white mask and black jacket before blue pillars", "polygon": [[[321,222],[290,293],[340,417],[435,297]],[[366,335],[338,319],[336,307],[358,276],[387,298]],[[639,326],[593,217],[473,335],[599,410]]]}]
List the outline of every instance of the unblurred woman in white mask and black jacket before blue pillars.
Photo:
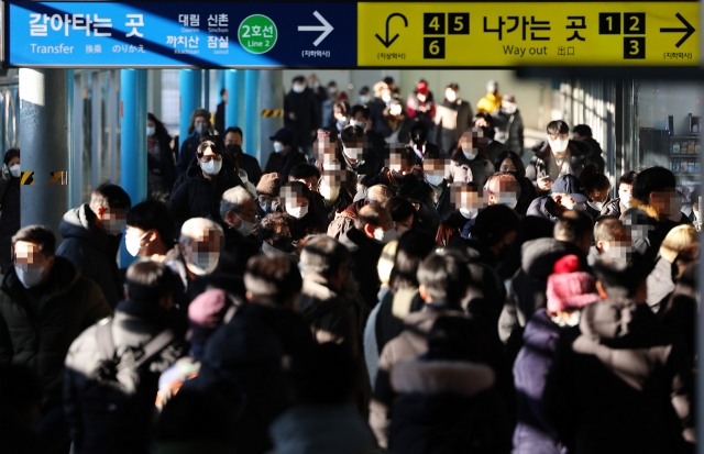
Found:
[{"label": "unblurred woman in white mask and black jacket before blue pillars", "polygon": [[222,165],[222,148],[216,137],[206,139],[196,151],[197,165],[188,168],[187,179],[173,193],[169,210],[176,225],[191,218],[220,221],[222,193],[242,180],[234,169]]}]

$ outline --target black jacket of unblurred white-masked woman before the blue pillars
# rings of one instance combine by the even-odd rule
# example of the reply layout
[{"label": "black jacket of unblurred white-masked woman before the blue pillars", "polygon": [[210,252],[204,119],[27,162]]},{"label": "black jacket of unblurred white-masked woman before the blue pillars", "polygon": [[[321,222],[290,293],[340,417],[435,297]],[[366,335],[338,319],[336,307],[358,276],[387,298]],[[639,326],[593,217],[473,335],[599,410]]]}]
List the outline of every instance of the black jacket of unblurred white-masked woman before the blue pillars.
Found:
[{"label": "black jacket of unblurred white-masked woman before the blue pillars", "polygon": [[234,169],[223,165],[220,173],[209,180],[197,162],[188,167],[187,179],[172,192],[168,203],[174,221],[180,225],[191,218],[210,218],[220,221],[220,201],[228,189],[241,186]]}]

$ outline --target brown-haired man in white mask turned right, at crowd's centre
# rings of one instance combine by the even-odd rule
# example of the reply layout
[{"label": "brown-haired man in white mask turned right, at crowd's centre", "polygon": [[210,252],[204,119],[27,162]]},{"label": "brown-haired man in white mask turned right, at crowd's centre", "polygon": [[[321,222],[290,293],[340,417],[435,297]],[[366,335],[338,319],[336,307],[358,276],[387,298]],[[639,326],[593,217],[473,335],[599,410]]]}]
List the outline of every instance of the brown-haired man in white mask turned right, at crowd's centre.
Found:
[{"label": "brown-haired man in white mask turned right, at crowd's centre", "polygon": [[354,229],[340,236],[340,243],[350,250],[350,269],[360,286],[360,295],[371,308],[378,301],[382,283],[376,265],[384,245],[397,240],[392,214],[377,204],[363,207],[354,219]]}]

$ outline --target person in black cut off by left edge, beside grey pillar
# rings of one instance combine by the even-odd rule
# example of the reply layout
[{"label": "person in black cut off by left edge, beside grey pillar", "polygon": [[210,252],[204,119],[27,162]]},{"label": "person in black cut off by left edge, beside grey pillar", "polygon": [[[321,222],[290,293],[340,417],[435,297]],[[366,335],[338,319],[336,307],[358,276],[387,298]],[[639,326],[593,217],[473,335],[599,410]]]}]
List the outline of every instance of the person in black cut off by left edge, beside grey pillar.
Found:
[{"label": "person in black cut off by left edge, beside grey pillar", "polygon": [[20,148],[10,148],[2,159],[0,179],[0,267],[12,266],[12,236],[20,230]]}]

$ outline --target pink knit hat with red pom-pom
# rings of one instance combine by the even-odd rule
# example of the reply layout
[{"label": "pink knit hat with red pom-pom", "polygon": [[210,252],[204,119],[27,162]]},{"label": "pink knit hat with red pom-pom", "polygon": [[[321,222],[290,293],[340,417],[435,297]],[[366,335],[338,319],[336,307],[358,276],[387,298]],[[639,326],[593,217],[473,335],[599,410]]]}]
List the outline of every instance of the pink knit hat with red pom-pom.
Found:
[{"label": "pink knit hat with red pom-pom", "polygon": [[601,299],[594,277],[581,270],[576,255],[560,258],[552,270],[547,291],[549,312],[581,309]]}]

